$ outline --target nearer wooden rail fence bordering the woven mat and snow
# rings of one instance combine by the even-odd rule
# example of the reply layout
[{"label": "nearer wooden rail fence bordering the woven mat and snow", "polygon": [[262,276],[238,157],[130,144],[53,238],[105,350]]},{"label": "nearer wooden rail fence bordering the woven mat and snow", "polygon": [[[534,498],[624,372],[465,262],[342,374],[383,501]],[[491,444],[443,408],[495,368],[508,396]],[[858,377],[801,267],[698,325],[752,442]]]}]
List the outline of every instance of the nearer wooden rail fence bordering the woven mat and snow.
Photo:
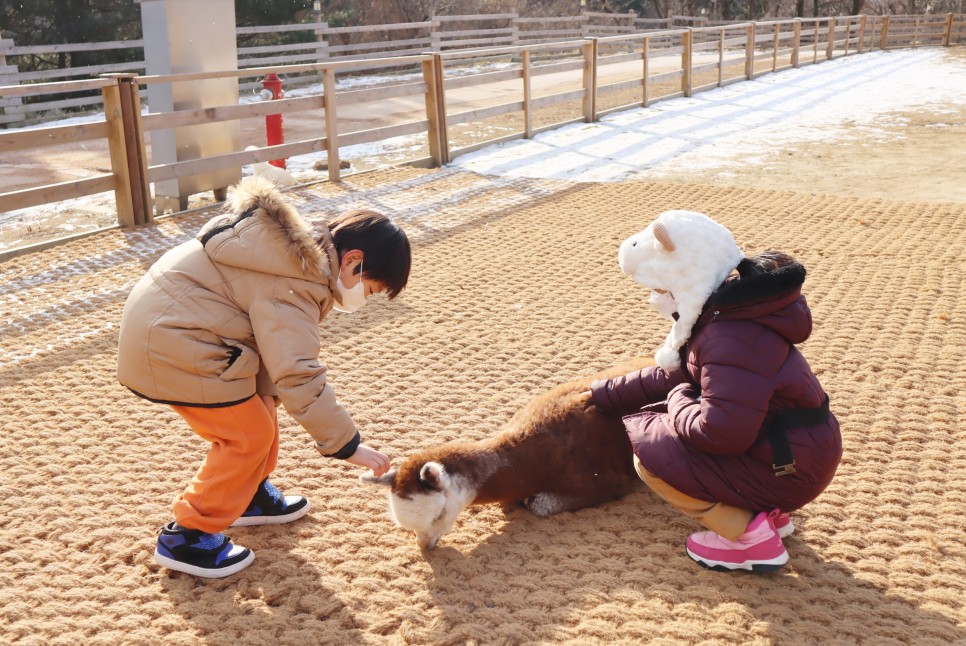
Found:
[{"label": "nearer wooden rail fence bordering the woven mat and snow", "polygon": [[[966,44],[963,16],[933,20],[927,16],[845,16],[747,22],[697,28],[664,29],[644,33],[581,38],[551,43],[506,45],[391,56],[365,60],[328,61],[226,70],[197,74],[136,76],[110,73],[97,79],[0,87],[0,99],[44,94],[99,92],[104,119],[82,125],[60,125],[0,132],[0,154],[16,151],[43,153],[48,147],[106,143],[110,172],[0,193],[0,212],[113,191],[118,223],[129,227],[152,220],[150,185],[271,159],[324,152],[328,178],[340,180],[339,149],[403,135],[424,135],[428,156],[411,163],[439,166],[455,157],[498,141],[534,134],[575,121],[593,122],[601,115],[658,99],[691,96],[713,87],[753,79],[768,72],[800,67],[873,49]],[[502,59],[505,69],[466,74],[468,63]],[[627,75],[631,63],[633,72]],[[377,87],[336,91],[336,75],[347,72],[416,72],[415,81],[389,82]],[[461,69],[463,73],[454,74]],[[621,77],[615,70],[625,70]],[[224,105],[197,110],[142,114],[141,89],[149,84],[199,82],[214,78],[259,78],[268,73],[321,76],[321,93],[260,103]],[[541,93],[541,79],[564,75],[572,89]],[[460,109],[467,88],[510,85],[519,97],[510,102]],[[555,83],[554,87],[559,87]],[[503,96],[506,92],[497,94]],[[343,110],[366,114],[387,99],[418,102],[419,108],[391,125],[340,132],[337,115]],[[548,108],[574,106],[571,118],[554,117],[538,123]],[[168,164],[151,165],[146,154],[148,133],[202,123],[218,123],[321,110],[317,137]],[[519,117],[514,132],[454,148],[450,133],[466,124]],[[558,115],[559,116],[559,115]],[[546,119],[544,119],[546,121]],[[0,254],[2,256],[3,254]]]}]

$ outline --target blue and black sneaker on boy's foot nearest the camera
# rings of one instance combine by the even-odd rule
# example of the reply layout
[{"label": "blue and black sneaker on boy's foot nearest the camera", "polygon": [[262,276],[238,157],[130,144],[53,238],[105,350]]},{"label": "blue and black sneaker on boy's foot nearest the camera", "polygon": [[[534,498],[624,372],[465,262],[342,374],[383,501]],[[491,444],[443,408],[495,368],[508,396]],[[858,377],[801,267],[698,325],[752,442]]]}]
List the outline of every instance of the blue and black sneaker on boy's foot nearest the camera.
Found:
[{"label": "blue and black sneaker on boy's foot nearest the camera", "polygon": [[154,560],[171,570],[218,579],[251,565],[255,552],[233,545],[224,534],[208,534],[171,522],[161,528]]}]

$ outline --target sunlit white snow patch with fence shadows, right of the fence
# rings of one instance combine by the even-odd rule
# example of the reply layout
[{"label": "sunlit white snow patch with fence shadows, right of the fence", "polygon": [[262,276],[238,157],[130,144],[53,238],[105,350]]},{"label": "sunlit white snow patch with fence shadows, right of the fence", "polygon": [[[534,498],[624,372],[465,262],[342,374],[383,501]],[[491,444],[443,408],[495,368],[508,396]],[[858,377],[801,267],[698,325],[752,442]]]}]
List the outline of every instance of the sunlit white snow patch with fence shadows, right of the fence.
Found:
[{"label": "sunlit white snow patch with fence shadows, right of the fence", "polygon": [[873,52],[563,126],[452,165],[581,182],[727,172],[795,144],[881,137],[883,126],[901,122],[889,113],[943,103],[966,103],[966,62],[941,49]]}]

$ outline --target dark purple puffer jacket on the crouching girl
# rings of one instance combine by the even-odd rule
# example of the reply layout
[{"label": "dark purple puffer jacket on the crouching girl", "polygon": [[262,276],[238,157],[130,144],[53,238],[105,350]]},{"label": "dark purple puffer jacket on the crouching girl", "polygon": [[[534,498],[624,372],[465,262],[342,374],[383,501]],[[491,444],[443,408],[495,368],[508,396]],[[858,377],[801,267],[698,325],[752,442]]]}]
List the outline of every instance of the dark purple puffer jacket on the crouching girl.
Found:
[{"label": "dark purple puffer jacket on the crouching girl", "polygon": [[[594,404],[624,417],[644,467],[700,500],[751,510],[798,509],[832,480],[842,457],[835,416],[787,432],[795,473],[776,476],[767,437],[776,413],[821,407],[825,392],[794,344],[812,316],[801,294],[805,268],[739,265],[708,299],[682,367],[659,367],[596,381]],[[748,270],[748,271],[743,271]]]}]

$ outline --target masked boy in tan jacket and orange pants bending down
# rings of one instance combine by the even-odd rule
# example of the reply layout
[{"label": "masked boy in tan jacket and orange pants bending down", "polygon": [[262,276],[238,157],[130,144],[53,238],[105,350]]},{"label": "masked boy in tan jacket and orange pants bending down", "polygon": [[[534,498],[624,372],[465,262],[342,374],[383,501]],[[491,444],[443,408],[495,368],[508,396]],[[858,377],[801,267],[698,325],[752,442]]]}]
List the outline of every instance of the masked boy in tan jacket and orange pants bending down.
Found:
[{"label": "masked boy in tan jacket and orange pants bending down", "polygon": [[171,406],[211,442],[155,551],[161,565],[203,577],[234,574],[255,558],[220,533],[226,528],[287,523],[309,510],[268,482],[279,403],[322,455],[375,476],[389,469],[326,383],[319,323],[373,293],[395,298],[411,262],[406,234],[372,211],[313,226],[257,177],[234,187],[229,207],[135,285],[118,340],[120,383]]}]

